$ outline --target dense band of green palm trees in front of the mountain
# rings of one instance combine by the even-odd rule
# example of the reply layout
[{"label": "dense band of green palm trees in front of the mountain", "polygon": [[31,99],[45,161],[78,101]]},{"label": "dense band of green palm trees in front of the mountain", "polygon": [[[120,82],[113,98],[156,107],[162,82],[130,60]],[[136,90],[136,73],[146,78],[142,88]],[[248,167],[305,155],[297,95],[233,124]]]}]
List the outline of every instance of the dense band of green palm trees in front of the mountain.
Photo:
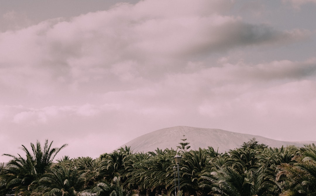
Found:
[{"label": "dense band of green palm trees in front of the mountain", "polygon": [[212,147],[189,150],[184,141],[177,150],[133,153],[125,147],[97,159],[64,156],[54,162],[66,144],[31,143],[31,151],[22,146],[25,156],[6,155],[12,160],[0,165],[0,195],[174,195],[177,154],[182,156],[178,195],[316,195],[314,144],[270,148],[252,139],[218,153]]}]

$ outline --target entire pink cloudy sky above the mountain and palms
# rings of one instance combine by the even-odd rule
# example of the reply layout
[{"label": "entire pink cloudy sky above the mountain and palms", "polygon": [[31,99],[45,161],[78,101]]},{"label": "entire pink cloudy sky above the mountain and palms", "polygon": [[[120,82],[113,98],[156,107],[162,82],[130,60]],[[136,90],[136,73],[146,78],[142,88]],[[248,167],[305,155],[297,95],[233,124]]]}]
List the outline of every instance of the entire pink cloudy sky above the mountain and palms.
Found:
[{"label": "entire pink cloudy sky above the mountain and palms", "polygon": [[316,0],[2,1],[0,154],[96,158],[173,126],[316,141],[315,18]]}]

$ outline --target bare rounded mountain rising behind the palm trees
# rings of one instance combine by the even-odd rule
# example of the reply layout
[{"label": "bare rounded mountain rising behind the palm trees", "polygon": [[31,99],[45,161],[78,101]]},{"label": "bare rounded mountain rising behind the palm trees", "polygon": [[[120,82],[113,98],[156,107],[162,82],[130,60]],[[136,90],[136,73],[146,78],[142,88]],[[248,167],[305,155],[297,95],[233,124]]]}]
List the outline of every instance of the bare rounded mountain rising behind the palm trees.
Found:
[{"label": "bare rounded mountain rising behind the palm trees", "polygon": [[239,148],[244,142],[248,142],[252,138],[256,138],[259,144],[264,143],[269,147],[288,145],[302,147],[304,144],[316,143],[313,141],[285,142],[221,129],[176,126],[156,130],[143,136],[139,136],[130,142],[125,143],[121,147],[130,146],[134,153],[155,151],[157,148],[162,150],[166,148],[177,149],[179,143],[183,142],[181,139],[184,138],[187,139],[185,142],[190,143],[190,150],[208,148],[211,146],[214,149],[218,148],[218,152],[228,152],[230,149]]}]

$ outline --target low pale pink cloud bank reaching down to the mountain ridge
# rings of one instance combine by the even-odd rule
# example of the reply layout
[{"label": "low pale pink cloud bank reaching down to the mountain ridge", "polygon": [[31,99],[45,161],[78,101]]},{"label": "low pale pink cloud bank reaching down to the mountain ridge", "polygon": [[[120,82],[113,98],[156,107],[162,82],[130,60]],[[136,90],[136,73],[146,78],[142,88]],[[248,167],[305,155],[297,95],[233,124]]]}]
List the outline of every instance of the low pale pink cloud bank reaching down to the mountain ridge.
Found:
[{"label": "low pale pink cloud bank reaching down to the mountain ridge", "polygon": [[[134,90],[106,92],[102,94],[106,104],[37,109],[4,106],[4,130],[11,119],[17,130],[36,128],[32,131],[36,139],[70,143],[65,155],[96,157],[144,134],[142,130],[179,124],[252,130],[252,134],[271,137],[270,130],[300,129],[301,124],[295,124],[297,119],[304,124],[314,123],[315,59],[252,65],[222,58],[218,63],[217,67],[207,67],[201,62],[190,62],[190,68],[199,69],[169,73],[154,85]],[[284,140],[291,137],[285,137],[282,131],[274,131],[273,136]],[[96,141],[94,148],[99,146],[91,154],[89,140]],[[29,141],[21,141],[25,142]],[[79,144],[85,148],[75,152]]]}]

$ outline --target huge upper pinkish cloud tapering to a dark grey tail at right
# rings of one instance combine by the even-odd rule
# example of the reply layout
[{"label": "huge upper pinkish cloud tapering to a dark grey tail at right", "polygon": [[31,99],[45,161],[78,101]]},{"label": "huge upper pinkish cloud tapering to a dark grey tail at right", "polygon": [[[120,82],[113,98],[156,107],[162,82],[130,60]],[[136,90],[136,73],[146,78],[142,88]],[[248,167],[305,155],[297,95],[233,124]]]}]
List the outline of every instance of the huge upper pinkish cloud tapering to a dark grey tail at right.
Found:
[{"label": "huge upper pinkish cloud tapering to a dark grey tail at right", "polygon": [[310,35],[304,29],[280,31],[224,15],[221,12],[232,6],[226,1],[178,6],[178,1],[118,4],[69,21],[56,18],[1,33],[0,85],[39,96],[80,91],[85,85],[94,86],[94,92],[111,91],[111,86],[100,84],[132,87],[166,68],[178,68],[177,59],[185,63],[197,55],[285,44]]}]

